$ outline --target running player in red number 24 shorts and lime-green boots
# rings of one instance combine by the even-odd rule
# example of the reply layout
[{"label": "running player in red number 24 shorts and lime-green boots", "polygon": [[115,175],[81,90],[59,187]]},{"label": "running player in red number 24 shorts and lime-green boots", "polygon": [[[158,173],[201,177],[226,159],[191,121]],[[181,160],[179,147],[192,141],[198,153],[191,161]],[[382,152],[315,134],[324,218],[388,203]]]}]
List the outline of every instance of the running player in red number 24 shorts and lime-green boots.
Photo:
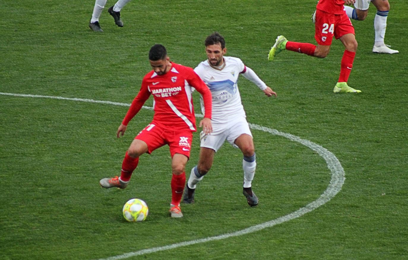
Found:
[{"label": "running player in red number 24 shorts and lime-green boots", "polygon": [[310,56],[324,58],[330,51],[333,36],[340,39],[345,50],[341,59],[340,76],[335,85],[334,93],[360,93],[360,90],[347,85],[348,76],[357,51],[354,27],[351,24],[344,4],[354,4],[355,0],[319,0],[315,14],[315,39],[317,46],[311,43],[289,42],[283,35],[276,38],[275,44],[269,51],[268,59],[272,61],[275,56],[284,50],[304,53]]}]

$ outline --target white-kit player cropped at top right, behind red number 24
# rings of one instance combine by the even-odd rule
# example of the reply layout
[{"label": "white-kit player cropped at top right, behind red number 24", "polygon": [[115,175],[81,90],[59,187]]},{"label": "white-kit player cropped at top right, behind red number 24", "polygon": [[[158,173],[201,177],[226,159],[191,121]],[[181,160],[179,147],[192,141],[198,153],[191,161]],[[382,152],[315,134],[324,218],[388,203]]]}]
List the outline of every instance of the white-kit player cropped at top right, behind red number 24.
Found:
[{"label": "white-kit player cropped at top right, behind red number 24", "polygon": [[375,42],[373,46],[374,53],[399,53],[397,50],[389,48],[389,45],[384,43],[385,31],[387,27],[387,16],[390,11],[390,3],[388,0],[356,0],[354,7],[344,6],[347,16],[353,20],[364,20],[368,14],[370,2],[377,8],[377,13],[374,18]]}]

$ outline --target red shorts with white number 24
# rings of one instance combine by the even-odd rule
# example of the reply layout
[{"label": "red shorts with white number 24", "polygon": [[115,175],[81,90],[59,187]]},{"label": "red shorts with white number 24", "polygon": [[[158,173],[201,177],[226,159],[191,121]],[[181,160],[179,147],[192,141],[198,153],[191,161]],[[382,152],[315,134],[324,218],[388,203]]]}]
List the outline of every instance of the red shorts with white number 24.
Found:
[{"label": "red shorts with white number 24", "polygon": [[332,14],[316,10],[315,39],[317,44],[331,45],[333,35],[337,40],[347,33],[354,34],[354,27],[346,12]]}]

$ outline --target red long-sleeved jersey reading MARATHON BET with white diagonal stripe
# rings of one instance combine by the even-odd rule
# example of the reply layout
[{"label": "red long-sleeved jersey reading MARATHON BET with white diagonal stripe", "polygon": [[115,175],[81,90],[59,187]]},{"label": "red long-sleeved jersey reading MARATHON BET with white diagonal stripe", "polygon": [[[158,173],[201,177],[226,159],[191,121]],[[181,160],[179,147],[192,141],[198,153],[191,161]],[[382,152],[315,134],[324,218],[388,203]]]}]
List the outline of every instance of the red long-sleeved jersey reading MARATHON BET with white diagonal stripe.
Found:
[{"label": "red long-sleeved jersey reading MARATHON BET with white diagonal stripe", "polygon": [[153,95],[153,121],[155,125],[171,130],[184,129],[196,131],[191,87],[194,87],[204,99],[205,115],[211,119],[211,91],[192,68],[171,62],[171,69],[164,75],[154,71],[147,73],[139,93],[124,117],[122,124],[139,112],[144,102]]}]

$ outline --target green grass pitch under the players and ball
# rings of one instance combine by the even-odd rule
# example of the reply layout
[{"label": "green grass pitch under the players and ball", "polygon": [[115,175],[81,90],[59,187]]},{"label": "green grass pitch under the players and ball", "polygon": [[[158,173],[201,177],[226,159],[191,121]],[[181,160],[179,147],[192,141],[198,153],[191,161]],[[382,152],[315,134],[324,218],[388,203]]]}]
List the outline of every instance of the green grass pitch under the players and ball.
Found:
[{"label": "green grass pitch under the players and ball", "polygon": [[[290,1],[289,1],[290,2]],[[406,259],[408,257],[408,5],[390,0],[386,43],[371,52],[371,5],[353,21],[359,43],[348,84],[361,94],[333,94],[344,47],[334,41],[317,59],[293,52],[267,61],[277,35],[315,44],[316,0],[131,1],[118,28],[107,9],[104,33],[88,28],[93,0],[2,1],[0,23],[0,259],[98,259],[200,240],[259,225],[317,200],[330,184],[326,161],[282,136],[253,130],[259,205],[242,196],[242,154],[225,144],[199,184],[184,218],[168,216],[167,147],[143,155],[124,190],[102,189],[120,174],[133,137],[153,112],[142,109],[124,137],[126,106],[151,70],[149,48],[161,43],[172,61],[195,67],[204,39],[218,31],[227,55],[240,57],[278,94],[267,98],[244,77],[238,85],[248,122],[310,140],[344,168],[341,191],[317,209],[279,225],[129,259]],[[195,111],[199,112],[194,94]],[[152,99],[146,106],[152,105]],[[200,118],[197,118],[199,120]],[[197,163],[194,134],[187,176]],[[142,198],[150,214],[127,223],[122,206]]]}]

